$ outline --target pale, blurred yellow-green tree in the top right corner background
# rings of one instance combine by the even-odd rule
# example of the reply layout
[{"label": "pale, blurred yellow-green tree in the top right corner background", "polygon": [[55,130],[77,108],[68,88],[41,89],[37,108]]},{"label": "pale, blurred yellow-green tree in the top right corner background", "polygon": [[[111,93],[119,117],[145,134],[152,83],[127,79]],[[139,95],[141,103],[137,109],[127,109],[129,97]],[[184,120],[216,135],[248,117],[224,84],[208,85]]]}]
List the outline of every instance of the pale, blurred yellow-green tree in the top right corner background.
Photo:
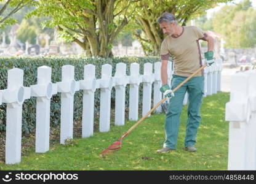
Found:
[{"label": "pale, blurred yellow-green tree in the top right corner background", "polygon": [[256,10],[249,0],[222,7],[213,17],[214,31],[225,37],[225,47],[248,48],[256,44]]}]

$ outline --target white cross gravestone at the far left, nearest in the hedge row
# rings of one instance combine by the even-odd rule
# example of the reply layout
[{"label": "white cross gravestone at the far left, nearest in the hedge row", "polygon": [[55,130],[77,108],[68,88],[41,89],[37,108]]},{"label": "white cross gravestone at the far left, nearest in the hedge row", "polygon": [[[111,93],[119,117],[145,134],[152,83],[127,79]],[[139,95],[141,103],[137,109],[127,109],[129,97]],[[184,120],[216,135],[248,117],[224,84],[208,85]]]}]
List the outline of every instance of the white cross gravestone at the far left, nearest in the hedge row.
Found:
[{"label": "white cross gravestone at the far left, nearest in the hedge row", "polygon": [[23,70],[8,71],[7,89],[2,90],[6,109],[6,164],[20,163],[22,145],[22,104],[30,98],[30,88],[23,86]]}]

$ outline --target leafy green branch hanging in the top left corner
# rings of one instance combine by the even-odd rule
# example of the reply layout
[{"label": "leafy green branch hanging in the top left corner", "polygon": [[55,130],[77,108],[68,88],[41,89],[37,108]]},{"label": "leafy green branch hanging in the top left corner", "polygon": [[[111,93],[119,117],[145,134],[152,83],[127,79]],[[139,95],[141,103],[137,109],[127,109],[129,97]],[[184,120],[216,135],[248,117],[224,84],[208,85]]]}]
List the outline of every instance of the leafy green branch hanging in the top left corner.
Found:
[{"label": "leafy green branch hanging in the top left corner", "polygon": [[34,2],[35,0],[0,0],[0,28],[17,23],[12,15],[25,6],[33,5]]}]

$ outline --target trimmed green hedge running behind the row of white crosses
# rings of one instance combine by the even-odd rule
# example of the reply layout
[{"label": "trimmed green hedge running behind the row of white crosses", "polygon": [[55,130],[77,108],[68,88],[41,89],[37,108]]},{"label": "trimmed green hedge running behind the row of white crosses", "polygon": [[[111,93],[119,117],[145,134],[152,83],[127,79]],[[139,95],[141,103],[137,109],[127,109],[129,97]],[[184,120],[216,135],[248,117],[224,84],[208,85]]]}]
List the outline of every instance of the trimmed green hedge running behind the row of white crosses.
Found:
[{"label": "trimmed green hedge running behind the row of white crosses", "polygon": [[[62,80],[62,66],[71,64],[74,66],[74,79],[82,80],[84,75],[84,65],[95,65],[95,77],[101,78],[101,66],[103,64],[111,64],[113,73],[116,71],[117,63],[126,63],[127,75],[130,75],[130,64],[140,64],[140,74],[143,74],[144,63],[155,63],[159,61],[158,57],[116,57],[110,58],[64,58],[64,57],[12,57],[0,58],[0,89],[7,88],[7,71],[14,67],[24,70],[24,86],[35,85],[37,83],[37,68],[40,66],[52,67],[52,82],[60,82]],[[139,104],[142,104],[142,85],[140,85]],[[111,108],[114,108],[114,88],[111,93]],[[129,103],[129,85],[126,86],[126,107]],[[99,113],[100,110],[100,90],[95,91],[95,107],[94,112]],[[82,117],[82,90],[74,94],[74,121],[81,120]],[[50,123],[58,125],[60,123],[60,93],[55,94],[51,99],[50,105]],[[6,104],[0,105],[0,131],[6,128]],[[25,133],[34,132],[36,124],[36,98],[31,97],[23,103],[22,114],[22,131]]]}]

